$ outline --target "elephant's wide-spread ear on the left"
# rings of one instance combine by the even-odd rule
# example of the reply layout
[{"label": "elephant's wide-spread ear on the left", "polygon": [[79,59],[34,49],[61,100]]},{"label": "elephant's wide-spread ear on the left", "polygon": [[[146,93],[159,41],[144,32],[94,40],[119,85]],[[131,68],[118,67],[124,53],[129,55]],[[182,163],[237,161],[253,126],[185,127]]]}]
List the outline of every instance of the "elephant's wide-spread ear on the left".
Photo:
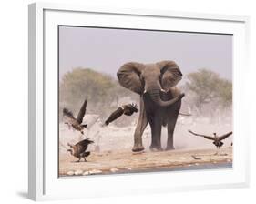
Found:
[{"label": "elephant's wide-spread ear on the left", "polygon": [[121,66],[117,73],[120,85],[141,94],[143,87],[139,76],[143,69],[143,64],[137,62],[128,62]]}]

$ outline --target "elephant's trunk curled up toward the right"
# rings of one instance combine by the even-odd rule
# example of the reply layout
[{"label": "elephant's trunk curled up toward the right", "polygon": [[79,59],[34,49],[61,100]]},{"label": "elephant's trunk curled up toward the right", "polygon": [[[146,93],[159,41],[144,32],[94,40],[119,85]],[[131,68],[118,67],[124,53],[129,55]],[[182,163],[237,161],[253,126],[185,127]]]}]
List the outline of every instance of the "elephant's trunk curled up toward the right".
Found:
[{"label": "elephant's trunk curled up toward the right", "polygon": [[185,96],[184,94],[181,94],[179,95],[179,97],[174,97],[173,99],[170,99],[168,101],[163,101],[160,97],[160,91],[161,89],[159,87],[148,88],[149,96],[160,107],[169,107]]}]

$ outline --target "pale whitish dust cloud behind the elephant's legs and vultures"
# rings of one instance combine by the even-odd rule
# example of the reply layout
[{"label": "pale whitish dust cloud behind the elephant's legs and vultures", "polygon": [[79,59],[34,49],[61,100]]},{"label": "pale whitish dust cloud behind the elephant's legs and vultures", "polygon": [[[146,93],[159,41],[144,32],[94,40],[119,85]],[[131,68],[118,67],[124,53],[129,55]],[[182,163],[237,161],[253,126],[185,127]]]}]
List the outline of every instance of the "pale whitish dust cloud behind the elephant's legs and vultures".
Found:
[{"label": "pale whitish dust cloud behind the elephant's legs and vultures", "polygon": [[[207,109],[210,110],[210,107],[207,107]],[[180,111],[183,113],[188,113],[188,108],[182,107]],[[174,146],[177,150],[216,148],[212,144],[211,140],[191,135],[188,132],[189,129],[196,133],[209,136],[213,136],[214,132],[216,132],[218,136],[221,136],[232,131],[231,109],[228,111],[220,111],[215,109],[213,113],[212,111],[205,111],[205,115],[199,115],[194,110],[189,111],[191,111],[190,113],[192,116],[179,115],[177,120],[174,131]],[[91,138],[94,141],[94,144],[90,145],[88,148],[90,151],[115,151],[123,149],[131,150],[134,141],[133,134],[138,120],[138,113],[131,117],[119,117],[116,123],[114,122],[110,123],[108,126],[102,126],[105,119],[106,118],[102,118],[98,115],[87,114],[84,117],[84,123],[88,124],[88,127],[85,130],[85,135],[81,135],[76,130],[68,129],[67,125],[60,120],[60,153],[67,154],[67,142],[76,144],[78,141],[84,138]],[[126,120],[128,120],[128,123],[125,122]],[[142,138],[145,150],[148,151],[151,143],[151,132],[149,125],[145,129]],[[233,136],[231,135],[229,138],[223,140],[223,147],[230,147],[232,138]],[[164,127],[162,128],[161,132],[161,143],[162,148],[165,148],[167,143],[167,128]]]}]

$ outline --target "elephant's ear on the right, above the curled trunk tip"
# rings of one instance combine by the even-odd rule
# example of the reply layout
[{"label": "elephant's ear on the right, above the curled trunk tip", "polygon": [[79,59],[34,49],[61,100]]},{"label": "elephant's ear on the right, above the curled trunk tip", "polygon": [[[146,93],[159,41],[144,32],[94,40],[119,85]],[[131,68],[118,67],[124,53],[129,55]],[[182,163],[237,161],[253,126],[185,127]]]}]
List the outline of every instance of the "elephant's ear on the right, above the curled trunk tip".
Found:
[{"label": "elephant's ear on the right, above the curled trunk tip", "polygon": [[174,61],[161,61],[157,63],[161,71],[161,85],[165,90],[176,86],[182,78],[179,66]]}]

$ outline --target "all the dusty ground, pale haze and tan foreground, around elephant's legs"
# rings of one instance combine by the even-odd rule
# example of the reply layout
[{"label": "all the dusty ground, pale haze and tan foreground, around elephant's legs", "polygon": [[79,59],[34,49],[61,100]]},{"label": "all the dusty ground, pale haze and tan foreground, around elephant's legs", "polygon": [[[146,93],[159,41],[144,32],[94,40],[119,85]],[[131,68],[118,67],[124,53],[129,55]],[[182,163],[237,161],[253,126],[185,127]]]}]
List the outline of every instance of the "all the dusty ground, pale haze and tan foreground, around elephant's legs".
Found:
[{"label": "all the dusty ground, pale haze and tan foreground, around elephant's legs", "polygon": [[[94,118],[97,118],[97,116],[86,115],[85,121],[89,124],[92,121],[91,124],[93,125],[87,127],[84,136],[60,123],[60,176],[230,168],[232,165],[232,148],[230,144],[233,136],[224,140],[221,153],[227,155],[220,156],[214,155],[216,148],[211,140],[192,136],[188,132],[188,129],[191,129],[207,135],[212,135],[213,132],[222,135],[231,131],[231,117],[221,117],[222,120],[214,122],[208,117],[179,116],[174,132],[176,150],[163,152],[151,152],[148,149],[151,143],[151,132],[148,126],[142,137],[143,145],[146,149],[144,153],[140,154],[134,154],[131,151],[134,140],[133,133],[137,124],[136,117],[130,126],[125,127],[117,127],[114,124],[102,127],[102,121],[100,120],[93,123],[95,121]],[[126,119],[126,117],[122,117],[122,119]],[[76,144],[84,138],[90,138],[94,141],[94,144],[89,145],[87,148],[91,155],[87,158],[87,162],[77,163],[77,158],[67,152],[67,142]],[[167,141],[166,128],[162,128],[161,140],[162,148],[165,148]],[[97,146],[100,148],[100,152],[97,152]],[[196,158],[193,158],[193,155]]]}]

